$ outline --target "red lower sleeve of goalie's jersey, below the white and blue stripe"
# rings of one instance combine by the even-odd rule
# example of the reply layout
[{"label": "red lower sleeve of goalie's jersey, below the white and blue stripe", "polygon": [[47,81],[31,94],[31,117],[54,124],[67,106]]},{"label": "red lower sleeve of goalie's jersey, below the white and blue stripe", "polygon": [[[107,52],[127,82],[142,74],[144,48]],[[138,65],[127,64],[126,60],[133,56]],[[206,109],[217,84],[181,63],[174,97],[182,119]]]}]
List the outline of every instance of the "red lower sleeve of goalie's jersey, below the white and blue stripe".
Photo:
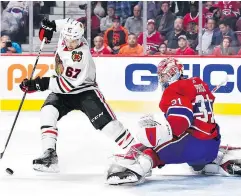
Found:
[{"label": "red lower sleeve of goalie's jersey, below the white and blue stripe", "polygon": [[175,136],[179,136],[189,128],[189,122],[182,116],[168,116],[167,121],[169,122],[172,133]]}]

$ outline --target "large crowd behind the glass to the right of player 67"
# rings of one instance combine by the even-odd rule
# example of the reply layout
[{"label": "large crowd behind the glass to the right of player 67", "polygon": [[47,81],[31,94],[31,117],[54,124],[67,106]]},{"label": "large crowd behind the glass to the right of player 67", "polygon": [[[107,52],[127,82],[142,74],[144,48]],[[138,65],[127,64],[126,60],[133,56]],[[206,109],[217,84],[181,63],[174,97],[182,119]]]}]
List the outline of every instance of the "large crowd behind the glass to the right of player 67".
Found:
[{"label": "large crowd behind the glass to the right of player 67", "polygon": [[[142,55],[144,35],[147,55],[197,55],[200,48],[203,55],[241,53],[239,1],[203,1],[201,8],[198,1],[148,1],[144,31],[143,2],[108,1],[98,5],[107,15],[97,16],[94,10],[100,7],[95,8],[93,3],[93,14],[100,24],[99,30],[93,30],[103,37],[103,46],[111,54]],[[199,29],[199,17],[202,29]],[[202,44],[198,43],[199,30]],[[95,48],[96,43],[92,44]]]}]

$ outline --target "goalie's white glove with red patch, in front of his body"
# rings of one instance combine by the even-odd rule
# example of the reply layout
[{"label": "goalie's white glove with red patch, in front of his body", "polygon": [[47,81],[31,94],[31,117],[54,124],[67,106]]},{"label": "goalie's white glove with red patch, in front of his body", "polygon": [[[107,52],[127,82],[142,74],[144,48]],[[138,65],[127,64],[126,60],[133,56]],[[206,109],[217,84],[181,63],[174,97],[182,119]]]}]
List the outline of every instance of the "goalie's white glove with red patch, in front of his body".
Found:
[{"label": "goalie's white glove with red patch, in front of his body", "polygon": [[139,127],[136,137],[144,146],[151,148],[173,139],[171,126],[167,121],[165,124],[156,123],[151,127]]}]

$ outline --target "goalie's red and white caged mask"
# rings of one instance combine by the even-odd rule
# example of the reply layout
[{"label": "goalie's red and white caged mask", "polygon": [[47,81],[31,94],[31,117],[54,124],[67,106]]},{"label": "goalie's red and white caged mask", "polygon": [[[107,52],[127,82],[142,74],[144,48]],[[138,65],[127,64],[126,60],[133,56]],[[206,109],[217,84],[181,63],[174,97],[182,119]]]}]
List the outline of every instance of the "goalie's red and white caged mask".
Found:
[{"label": "goalie's red and white caged mask", "polygon": [[171,83],[180,79],[183,74],[183,65],[174,58],[162,60],[157,67],[159,82],[164,90]]}]

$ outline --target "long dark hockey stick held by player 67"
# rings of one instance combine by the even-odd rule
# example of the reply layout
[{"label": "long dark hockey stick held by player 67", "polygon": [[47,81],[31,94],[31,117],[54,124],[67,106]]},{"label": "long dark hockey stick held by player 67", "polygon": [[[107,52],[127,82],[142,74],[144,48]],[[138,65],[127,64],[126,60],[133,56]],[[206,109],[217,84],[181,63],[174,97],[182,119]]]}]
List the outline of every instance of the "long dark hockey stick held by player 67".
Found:
[{"label": "long dark hockey stick held by player 67", "polygon": [[[36,67],[37,67],[40,54],[41,54],[42,49],[43,49],[43,47],[44,47],[44,43],[45,43],[45,38],[43,39],[43,41],[42,41],[42,43],[41,43],[41,45],[40,45],[40,49],[39,49],[38,56],[37,56],[37,58],[36,58],[36,61],[35,61],[34,67],[33,67],[33,71],[32,71],[30,80],[33,78],[33,74],[34,74],[35,69],[36,69]],[[15,124],[16,124],[16,122],[17,122],[19,113],[20,113],[20,111],[21,111],[21,109],[22,109],[22,106],[23,106],[23,103],[24,103],[26,94],[27,94],[27,91],[25,91],[24,94],[23,94],[23,98],[22,98],[22,100],[21,100],[21,103],[20,103],[19,108],[18,108],[18,112],[17,112],[17,114],[16,114],[16,116],[15,116],[15,119],[14,119],[14,121],[13,121],[13,125],[12,125],[11,131],[10,131],[10,133],[9,133],[9,135],[8,135],[8,139],[7,139],[7,142],[6,142],[6,144],[5,144],[4,150],[3,150],[2,153],[0,153],[0,159],[3,158],[3,155],[4,155],[5,151],[6,151],[6,148],[7,148],[7,146],[8,146],[9,140],[10,140],[11,135],[12,135],[12,133],[13,133],[13,129],[14,129]]]}]

